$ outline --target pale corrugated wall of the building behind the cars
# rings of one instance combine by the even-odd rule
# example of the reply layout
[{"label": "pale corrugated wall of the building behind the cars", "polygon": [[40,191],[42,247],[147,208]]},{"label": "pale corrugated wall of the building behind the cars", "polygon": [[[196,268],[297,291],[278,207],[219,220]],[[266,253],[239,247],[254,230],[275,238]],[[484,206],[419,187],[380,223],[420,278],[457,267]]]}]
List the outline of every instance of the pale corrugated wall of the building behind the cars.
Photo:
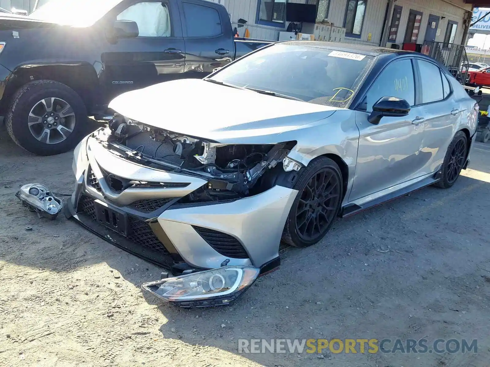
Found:
[{"label": "pale corrugated wall of the building behind the cars", "polygon": [[[231,22],[233,26],[237,25],[239,18],[245,19],[248,23],[243,28],[239,28],[241,36],[244,35],[245,29],[250,31],[251,38],[259,38],[266,40],[276,41],[279,37],[279,31],[285,31],[285,29],[270,27],[267,25],[255,24],[255,18],[257,14],[257,1],[258,0],[212,0],[223,4],[231,15]],[[306,0],[291,0],[294,2],[307,2]],[[309,1],[312,3],[312,1]],[[400,29],[397,34],[397,43],[403,42],[405,36],[405,30],[407,26],[408,15],[410,9],[422,12],[422,23],[420,26],[420,32],[418,36],[418,43],[422,43],[425,38],[425,30],[427,29],[427,23],[429,14],[434,14],[440,17],[445,17],[439,22],[440,34],[437,36],[436,41],[443,41],[444,34],[446,32],[447,22],[449,20],[458,22],[458,28],[456,33],[455,43],[461,43],[463,37],[463,17],[465,10],[461,7],[471,10],[471,5],[465,4],[463,0],[453,0],[454,3],[459,5],[451,5],[448,2],[442,0],[398,0],[396,5],[402,6],[402,15],[400,22]],[[379,45],[382,37],[383,21],[385,18],[385,12],[388,5],[387,0],[367,0],[366,14],[364,18],[361,38],[348,38],[345,37],[345,42],[348,43],[364,43],[371,45]],[[336,26],[343,26],[345,18],[345,10],[347,7],[347,0],[330,0],[330,9],[328,11],[328,20]],[[389,14],[389,20],[392,14]],[[371,40],[368,41],[369,34]]]}]

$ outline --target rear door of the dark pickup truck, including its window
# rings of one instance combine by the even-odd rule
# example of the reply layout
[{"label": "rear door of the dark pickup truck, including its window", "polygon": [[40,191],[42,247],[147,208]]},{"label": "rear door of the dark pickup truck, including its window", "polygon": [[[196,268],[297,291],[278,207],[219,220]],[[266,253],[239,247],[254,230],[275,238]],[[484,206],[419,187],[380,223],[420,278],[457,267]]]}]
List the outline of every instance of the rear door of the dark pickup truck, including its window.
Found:
[{"label": "rear door of the dark pickup truck, including its window", "polygon": [[233,61],[235,43],[224,6],[211,1],[180,2],[186,48],[185,77],[203,78]]}]

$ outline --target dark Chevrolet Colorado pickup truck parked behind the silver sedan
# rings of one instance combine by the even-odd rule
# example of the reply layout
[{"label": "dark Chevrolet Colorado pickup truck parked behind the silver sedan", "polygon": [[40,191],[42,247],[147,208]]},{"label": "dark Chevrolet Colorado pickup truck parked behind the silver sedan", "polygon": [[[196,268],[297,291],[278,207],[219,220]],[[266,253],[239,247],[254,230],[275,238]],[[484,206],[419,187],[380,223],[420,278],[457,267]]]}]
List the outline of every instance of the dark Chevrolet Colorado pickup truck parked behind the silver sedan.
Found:
[{"label": "dark Chevrolet Colorado pickup truck parked behind the silver sedan", "polygon": [[63,153],[115,96],[205,77],[269,43],[235,38],[226,8],[207,0],[50,0],[0,15],[0,116],[25,150]]}]

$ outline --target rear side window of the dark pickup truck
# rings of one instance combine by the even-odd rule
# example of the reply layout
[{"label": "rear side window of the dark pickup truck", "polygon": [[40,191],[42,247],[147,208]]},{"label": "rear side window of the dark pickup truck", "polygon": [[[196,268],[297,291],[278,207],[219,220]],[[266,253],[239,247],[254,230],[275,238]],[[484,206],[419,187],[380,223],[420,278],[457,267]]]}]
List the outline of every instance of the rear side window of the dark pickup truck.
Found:
[{"label": "rear side window of the dark pickup truck", "polygon": [[183,2],[187,37],[213,37],[223,33],[220,13],[209,6]]}]

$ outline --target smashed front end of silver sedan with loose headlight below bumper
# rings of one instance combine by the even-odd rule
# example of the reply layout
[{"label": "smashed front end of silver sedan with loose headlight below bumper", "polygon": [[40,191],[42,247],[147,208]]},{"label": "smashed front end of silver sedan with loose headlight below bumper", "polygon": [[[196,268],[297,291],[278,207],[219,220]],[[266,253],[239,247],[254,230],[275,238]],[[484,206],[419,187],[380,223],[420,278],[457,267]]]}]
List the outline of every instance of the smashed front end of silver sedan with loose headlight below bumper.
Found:
[{"label": "smashed front end of silver sedan with loose headlight below bumper", "polygon": [[295,144],[220,143],[115,115],[74,151],[67,216],[169,269],[142,286],[156,297],[228,304],[279,267]]}]

